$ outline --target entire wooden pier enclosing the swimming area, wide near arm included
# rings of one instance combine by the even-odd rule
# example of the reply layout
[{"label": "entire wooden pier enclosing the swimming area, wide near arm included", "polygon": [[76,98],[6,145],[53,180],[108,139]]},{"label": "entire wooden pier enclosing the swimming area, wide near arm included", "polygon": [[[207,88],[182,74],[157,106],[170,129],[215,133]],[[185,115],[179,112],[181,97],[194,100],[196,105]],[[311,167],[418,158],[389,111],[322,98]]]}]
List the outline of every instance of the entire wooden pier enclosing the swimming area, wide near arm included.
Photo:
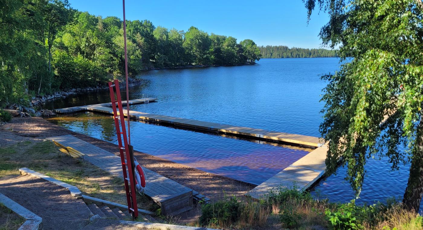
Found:
[{"label": "entire wooden pier enclosing the swimming area, wide near arm included", "polygon": [[[149,100],[156,100],[149,98]],[[126,103],[126,102],[124,102]],[[129,100],[129,104],[143,103],[142,100]],[[105,114],[113,114],[113,109],[110,108],[111,103],[103,103],[91,106],[79,106],[72,108],[62,108],[55,110],[59,114],[67,114],[78,111],[93,111]],[[126,116],[126,111],[124,111]],[[127,116],[126,116],[127,117]],[[292,187],[295,183],[298,189],[307,189],[315,183],[326,172],[326,154],[328,145],[317,137],[306,135],[282,133],[271,130],[256,129],[249,127],[239,127],[229,124],[219,124],[214,122],[204,122],[193,119],[185,119],[173,116],[148,114],[138,111],[129,111],[129,117],[153,122],[165,122],[168,124],[190,127],[201,130],[217,131],[219,133],[226,133],[230,135],[242,135],[246,137],[259,138],[264,140],[276,140],[286,143],[294,143],[303,146],[310,146],[315,148],[313,151],[294,162],[292,165],[283,169],[272,178],[259,184],[252,189],[248,194],[256,199],[261,198],[270,190],[279,187]]]}]

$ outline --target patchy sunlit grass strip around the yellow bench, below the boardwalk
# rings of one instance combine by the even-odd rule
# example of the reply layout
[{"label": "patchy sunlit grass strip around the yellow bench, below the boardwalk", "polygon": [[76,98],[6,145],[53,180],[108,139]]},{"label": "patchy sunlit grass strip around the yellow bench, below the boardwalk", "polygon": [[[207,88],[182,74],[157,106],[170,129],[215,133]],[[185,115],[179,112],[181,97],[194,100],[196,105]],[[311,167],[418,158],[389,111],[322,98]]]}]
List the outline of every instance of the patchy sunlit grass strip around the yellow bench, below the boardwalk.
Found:
[{"label": "patchy sunlit grass strip around the yellow bench, below the boardwalk", "polygon": [[[126,204],[121,177],[61,153],[51,141],[23,141],[0,148],[0,178],[18,176],[19,168],[29,168],[74,185],[85,195]],[[139,208],[153,207],[148,198],[138,197]]]}]

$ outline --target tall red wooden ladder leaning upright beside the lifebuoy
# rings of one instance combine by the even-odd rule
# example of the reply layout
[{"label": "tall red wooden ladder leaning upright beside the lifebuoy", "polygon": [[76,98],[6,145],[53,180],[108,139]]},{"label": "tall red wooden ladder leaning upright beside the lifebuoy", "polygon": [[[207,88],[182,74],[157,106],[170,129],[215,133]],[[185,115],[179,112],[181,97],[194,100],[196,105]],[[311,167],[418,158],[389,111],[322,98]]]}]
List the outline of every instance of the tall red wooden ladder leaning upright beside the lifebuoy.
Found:
[{"label": "tall red wooden ladder leaning upright beside the lifebuoy", "polygon": [[[116,89],[116,99],[115,92],[113,87]],[[122,171],[124,172],[124,181],[125,181],[125,190],[126,190],[126,201],[128,202],[128,211],[132,213],[132,218],[135,219],[138,217],[138,208],[137,208],[137,194],[135,192],[135,174],[134,174],[134,163],[132,155],[132,146],[128,144],[128,137],[126,136],[126,127],[125,127],[125,116],[122,108],[122,99],[121,99],[121,90],[119,89],[119,82],[115,80],[109,82],[110,89],[110,99],[112,101],[113,108],[113,119],[115,120],[116,133],[118,135],[119,151],[121,153],[121,162],[122,162]],[[128,106],[128,98],[126,98],[126,106]],[[118,103],[119,115],[116,110],[116,102]],[[128,115],[129,119],[129,115]],[[119,126],[119,120],[121,120],[121,125]],[[122,131],[121,128],[122,127]],[[124,137],[124,144],[122,145],[122,136]],[[126,158],[124,154],[126,153]],[[126,159],[126,162],[125,162]],[[128,166],[128,173],[126,173],[126,166]],[[129,178],[128,178],[129,177]],[[129,183],[128,183],[129,181]]]}]

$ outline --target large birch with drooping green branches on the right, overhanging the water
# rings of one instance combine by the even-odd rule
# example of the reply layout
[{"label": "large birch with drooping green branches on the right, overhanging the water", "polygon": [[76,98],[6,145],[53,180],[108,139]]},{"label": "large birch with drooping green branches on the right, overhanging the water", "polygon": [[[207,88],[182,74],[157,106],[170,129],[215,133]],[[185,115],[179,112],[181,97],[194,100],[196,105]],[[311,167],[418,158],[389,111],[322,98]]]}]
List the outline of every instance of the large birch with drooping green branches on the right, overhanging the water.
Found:
[{"label": "large birch with drooping green branches on the right, overhanging the water", "polygon": [[[322,100],[320,130],[330,140],[327,169],[338,160],[360,193],[369,157],[390,159],[392,169],[410,162],[404,205],[418,211],[423,195],[423,4],[420,0],[307,0],[329,13],[324,45],[339,46],[341,65]],[[379,125],[391,112],[384,125]],[[401,152],[398,146],[406,146]]]}]

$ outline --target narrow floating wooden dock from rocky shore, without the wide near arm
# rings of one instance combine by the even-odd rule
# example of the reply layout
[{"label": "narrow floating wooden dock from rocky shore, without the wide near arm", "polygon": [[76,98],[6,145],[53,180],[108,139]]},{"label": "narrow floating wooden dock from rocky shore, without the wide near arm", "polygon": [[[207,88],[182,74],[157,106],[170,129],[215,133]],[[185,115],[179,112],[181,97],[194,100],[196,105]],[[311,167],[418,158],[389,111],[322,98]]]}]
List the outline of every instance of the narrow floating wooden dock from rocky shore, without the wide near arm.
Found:
[{"label": "narrow floating wooden dock from rocky shore, without the wide near arm", "polygon": [[[146,100],[154,101],[157,99],[147,98]],[[122,103],[126,103],[126,101]],[[137,103],[144,103],[144,101],[143,99],[129,100],[129,104],[137,104]],[[55,112],[59,114],[69,114],[69,113],[81,112],[81,111],[93,111],[93,112],[99,112],[104,114],[113,114],[113,109],[107,106],[111,106],[111,103],[103,103],[103,104],[96,104],[96,105],[90,105],[90,106],[77,106],[77,107],[71,107],[71,108],[61,108],[61,109],[56,109]],[[126,116],[126,110],[124,110],[124,116]],[[319,138],[312,137],[312,136],[282,133],[277,131],[249,128],[249,127],[240,127],[240,126],[235,126],[230,124],[220,124],[215,122],[204,122],[204,121],[198,121],[194,119],[185,119],[180,117],[166,116],[166,115],[159,115],[159,114],[149,114],[149,113],[143,113],[138,111],[129,111],[129,117],[134,119],[152,121],[152,122],[164,122],[164,123],[177,125],[177,126],[189,127],[194,129],[200,129],[200,130],[208,130],[208,131],[226,133],[231,135],[241,135],[241,136],[253,137],[258,139],[270,140],[270,141],[275,140],[275,141],[281,141],[286,143],[293,143],[293,144],[298,144],[302,146],[310,146],[313,148],[322,146],[324,143]]]}]

